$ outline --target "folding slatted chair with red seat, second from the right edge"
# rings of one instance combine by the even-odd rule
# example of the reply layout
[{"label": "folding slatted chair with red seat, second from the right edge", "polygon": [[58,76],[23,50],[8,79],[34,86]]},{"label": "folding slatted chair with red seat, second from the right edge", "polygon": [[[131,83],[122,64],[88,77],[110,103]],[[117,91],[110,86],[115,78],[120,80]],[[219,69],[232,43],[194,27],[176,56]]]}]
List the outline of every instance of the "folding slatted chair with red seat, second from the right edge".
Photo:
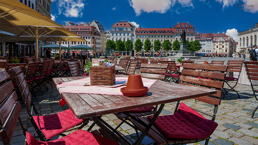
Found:
[{"label": "folding slatted chair with red seat, second from the right edge", "polygon": [[[239,80],[240,77],[240,73],[242,70],[242,65],[243,65],[243,60],[228,60],[227,62],[227,66],[228,66],[228,71],[227,71],[227,76],[225,78],[225,82],[228,85],[228,87],[230,87],[230,89],[224,88],[224,90],[226,91],[226,93],[224,93],[223,98],[225,98],[225,95],[229,92],[229,91],[234,91],[237,93],[238,97],[239,93],[234,89],[234,87],[236,87],[237,82]],[[234,82],[234,86],[231,87],[228,83],[229,82]]]}]

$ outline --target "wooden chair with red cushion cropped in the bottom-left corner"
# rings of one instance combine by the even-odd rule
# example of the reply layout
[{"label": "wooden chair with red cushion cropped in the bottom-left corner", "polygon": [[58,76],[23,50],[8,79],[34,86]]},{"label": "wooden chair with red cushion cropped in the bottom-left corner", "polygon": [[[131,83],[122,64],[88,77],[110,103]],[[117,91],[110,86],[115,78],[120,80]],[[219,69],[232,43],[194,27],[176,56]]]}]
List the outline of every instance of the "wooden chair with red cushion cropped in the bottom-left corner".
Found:
[{"label": "wooden chair with red cushion cropped in the bottom-left corner", "polygon": [[[7,77],[9,77],[5,71],[0,71],[0,74],[1,74],[0,82],[5,81],[5,79]],[[5,89],[5,88],[9,88],[9,89]],[[23,87],[21,86],[21,88],[23,88]],[[28,87],[26,87],[24,90],[25,91],[24,96],[27,97],[25,104],[30,105],[30,103],[32,103],[32,102],[29,99],[30,93],[26,91],[27,88]],[[0,102],[0,104],[1,104],[0,105],[0,120],[1,120],[0,135],[1,135],[3,144],[9,144],[11,142],[11,138],[13,136],[13,132],[15,130],[15,126],[17,124],[18,119],[19,119],[21,129],[23,130],[23,134],[24,134],[24,136],[26,136],[26,140],[25,140],[24,144],[29,144],[29,145],[31,145],[31,144],[73,144],[74,142],[77,142],[78,144],[92,144],[92,143],[93,144],[114,144],[114,145],[118,144],[118,142],[116,142],[110,136],[109,136],[110,139],[112,139],[113,141],[102,137],[97,130],[93,131],[94,132],[94,134],[93,134],[93,133],[90,133],[88,131],[81,130],[81,129],[79,129],[63,138],[53,140],[51,142],[44,142],[44,138],[42,137],[42,135],[40,133],[40,135],[42,137],[40,139],[42,139],[42,140],[39,141],[36,138],[34,138],[29,132],[27,132],[27,130],[24,128],[24,126],[21,122],[21,118],[19,117],[19,114],[21,112],[21,105],[20,105],[19,101],[17,101],[17,94],[15,91],[13,91],[12,84],[10,82],[5,83],[4,85],[2,85],[0,87],[0,91],[5,92],[4,94],[1,93],[2,97],[0,100],[1,101]],[[35,110],[36,110],[36,108],[34,108],[34,111]],[[53,115],[56,115],[56,114],[53,114]],[[74,117],[72,112],[71,112],[71,116]],[[40,116],[35,116],[35,117],[38,118]],[[48,116],[43,116],[43,117],[47,118]],[[30,118],[32,118],[32,117],[30,117]],[[56,123],[58,123],[58,122],[56,122]],[[59,121],[59,124],[60,124],[60,121]],[[53,126],[56,127],[57,124],[54,124]],[[103,130],[100,130],[100,131],[103,132]],[[98,135],[96,135],[96,134],[98,134]],[[107,135],[107,134],[105,134],[105,135]],[[83,138],[84,140],[80,141],[81,138]]]}]

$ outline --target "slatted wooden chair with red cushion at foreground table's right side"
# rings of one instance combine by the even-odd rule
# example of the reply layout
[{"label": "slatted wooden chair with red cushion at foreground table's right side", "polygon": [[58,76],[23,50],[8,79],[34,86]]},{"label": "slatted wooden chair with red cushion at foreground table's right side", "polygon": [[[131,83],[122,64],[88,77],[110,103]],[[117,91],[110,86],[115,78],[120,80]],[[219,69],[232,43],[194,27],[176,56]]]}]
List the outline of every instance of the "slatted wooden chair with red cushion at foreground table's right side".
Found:
[{"label": "slatted wooden chair with red cushion at foreground table's right side", "polygon": [[[214,114],[210,115],[206,112],[201,112],[212,117],[211,120],[206,119],[196,111],[191,109],[184,103],[179,106],[179,101],[175,107],[173,115],[159,116],[154,126],[147,132],[148,137],[155,141],[158,145],[164,144],[189,144],[206,140],[205,144],[208,145],[210,135],[214,132],[218,124],[214,122],[217,113],[218,105],[220,105],[220,97],[224,86],[224,80],[227,71],[226,65],[211,65],[211,64],[190,64],[185,63],[181,72],[179,84],[196,86],[200,89],[216,89],[217,93],[211,96],[203,96],[194,98],[198,101],[214,105]],[[188,69],[191,70],[188,70]],[[198,71],[198,69],[218,71],[221,73],[214,73],[208,71]],[[201,87],[202,86],[202,87]],[[200,111],[199,111],[200,112]],[[145,129],[144,125],[139,123],[143,122],[145,125],[150,122],[153,116],[137,117],[131,119],[141,131]],[[204,123],[205,122],[205,123]],[[165,126],[163,126],[165,125]],[[204,134],[205,132],[205,134]]]}]

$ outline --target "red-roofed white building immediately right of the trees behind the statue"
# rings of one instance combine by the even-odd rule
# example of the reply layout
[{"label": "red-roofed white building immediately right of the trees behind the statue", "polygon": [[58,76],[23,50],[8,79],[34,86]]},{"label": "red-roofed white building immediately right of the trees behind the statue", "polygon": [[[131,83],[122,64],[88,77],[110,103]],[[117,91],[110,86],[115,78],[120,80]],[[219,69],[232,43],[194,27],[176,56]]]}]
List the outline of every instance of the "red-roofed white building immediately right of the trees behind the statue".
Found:
[{"label": "red-roofed white building immediately right of the trees behind the statue", "polygon": [[197,51],[197,53],[212,53],[212,40],[213,33],[199,33],[195,34],[195,40],[199,40],[202,45],[201,50]]}]

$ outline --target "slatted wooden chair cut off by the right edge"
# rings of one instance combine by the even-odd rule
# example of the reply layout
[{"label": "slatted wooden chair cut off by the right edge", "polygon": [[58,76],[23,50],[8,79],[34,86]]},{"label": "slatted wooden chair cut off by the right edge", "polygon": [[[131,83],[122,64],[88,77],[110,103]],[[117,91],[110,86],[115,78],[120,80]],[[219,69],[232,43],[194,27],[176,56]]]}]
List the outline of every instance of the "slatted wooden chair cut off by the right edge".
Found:
[{"label": "slatted wooden chair cut off by the right edge", "polygon": [[[253,91],[253,96],[258,101],[258,99],[256,97],[256,94],[255,94],[255,93],[258,93],[258,90],[255,90],[253,88],[253,84],[252,84],[252,80],[258,81],[258,61],[244,61],[244,64],[245,64],[245,70],[246,70],[248,79],[249,79],[249,81],[251,83],[251,88],[252,88],[252,91]],[[258,109],[258,106],[253,110],[251,118],[253,118],[254,113],[255,113],[255,111],[257,109]]]}]

